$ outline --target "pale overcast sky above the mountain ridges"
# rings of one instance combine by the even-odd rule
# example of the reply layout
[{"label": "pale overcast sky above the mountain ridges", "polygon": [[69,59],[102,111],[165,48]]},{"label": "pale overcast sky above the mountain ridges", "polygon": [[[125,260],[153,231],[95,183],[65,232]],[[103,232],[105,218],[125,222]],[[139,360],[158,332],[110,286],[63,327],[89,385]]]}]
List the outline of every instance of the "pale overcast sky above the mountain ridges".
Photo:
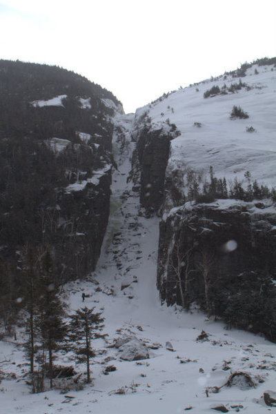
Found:
[{"label": "pale overcast sky above the mountain ridges", "polygon": [[276,56],[276,0],[0,0],[0,59],[73,70],[126,113]]}]

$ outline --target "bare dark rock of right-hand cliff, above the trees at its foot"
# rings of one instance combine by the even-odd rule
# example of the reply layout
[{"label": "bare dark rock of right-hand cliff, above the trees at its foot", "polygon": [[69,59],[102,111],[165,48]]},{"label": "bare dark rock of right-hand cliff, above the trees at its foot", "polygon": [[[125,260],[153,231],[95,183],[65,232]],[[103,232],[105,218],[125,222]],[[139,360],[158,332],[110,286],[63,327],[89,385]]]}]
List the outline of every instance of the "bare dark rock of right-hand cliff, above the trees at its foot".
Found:
[{"label": "bare dark rock of right-hand cliff, above the trees at its foot", "polygon": [[[170,262],[176,246],[183,257],[191,251],[189,266],[197,274],[197,255],[207,251],[214,256],[214,279],[263,270],[276,278],[275,225],[276,212],[253,214],[245,203],[225,210],[208,204],[198,204],[192,210],[179,208],[160,223],[157,286],[161,299],[168,304],[177,302],[175,288],[167,283],[174,273]],[[226,244],[232,240],[237,248],[230,251]]]}]

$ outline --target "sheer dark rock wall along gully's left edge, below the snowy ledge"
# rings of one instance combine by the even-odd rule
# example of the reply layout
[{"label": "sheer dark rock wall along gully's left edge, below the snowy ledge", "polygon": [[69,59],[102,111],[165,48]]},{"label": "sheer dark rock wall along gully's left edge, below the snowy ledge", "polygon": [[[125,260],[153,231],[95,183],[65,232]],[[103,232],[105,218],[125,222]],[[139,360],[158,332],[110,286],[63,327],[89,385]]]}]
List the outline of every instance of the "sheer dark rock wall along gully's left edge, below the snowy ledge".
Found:
[{"label": "sheer dark rock wall along gully's left edge, below the snowy ledge", "polygon": [[65,193],[59,199],[59,242],[54,250],[62,281],[83,277],[95,269],[108,224],[110,184],[111,169],[98,186],[88,183],[83,190]]}]

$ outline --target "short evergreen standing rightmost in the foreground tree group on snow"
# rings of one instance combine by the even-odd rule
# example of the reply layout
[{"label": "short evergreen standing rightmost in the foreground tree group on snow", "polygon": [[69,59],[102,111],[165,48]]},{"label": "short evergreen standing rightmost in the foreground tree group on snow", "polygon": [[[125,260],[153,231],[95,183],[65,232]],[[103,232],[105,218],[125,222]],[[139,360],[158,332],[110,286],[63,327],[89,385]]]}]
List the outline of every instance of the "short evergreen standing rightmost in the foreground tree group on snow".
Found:
[{"label": "short evergreen standing rightmost in the foreground tree group on snow", "polygon": [[95,357],[95,351],[91,347],[91,339],[95,338],[95,331],[101,331],[103,320],[101,313],[94,313],[95,307],[78,309],[71,315],[69,339],[72,342],[72,350],[77,355],[77,362],[86,362],[87,382],[90,380],[90,358]]}]

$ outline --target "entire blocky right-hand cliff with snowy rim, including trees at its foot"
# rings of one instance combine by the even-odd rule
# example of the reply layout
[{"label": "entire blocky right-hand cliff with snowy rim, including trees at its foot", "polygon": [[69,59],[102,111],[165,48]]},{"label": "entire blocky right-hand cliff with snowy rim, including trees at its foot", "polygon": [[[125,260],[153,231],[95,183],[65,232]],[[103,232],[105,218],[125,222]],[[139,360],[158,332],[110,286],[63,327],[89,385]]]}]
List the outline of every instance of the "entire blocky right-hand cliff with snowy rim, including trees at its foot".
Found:
[{"label": "entire blocky right-hand cliff with snowy rim, including trees at its foot", "polygon": [[161,299],[186,308],[197,302],[229,326],[276,339],[268,315],[266,322],[259,319],[269,307],[263,304],[268,291],[275,317],[275,225],[275,209],[261,203],[219,200],[172,209],[160,223]]}]

